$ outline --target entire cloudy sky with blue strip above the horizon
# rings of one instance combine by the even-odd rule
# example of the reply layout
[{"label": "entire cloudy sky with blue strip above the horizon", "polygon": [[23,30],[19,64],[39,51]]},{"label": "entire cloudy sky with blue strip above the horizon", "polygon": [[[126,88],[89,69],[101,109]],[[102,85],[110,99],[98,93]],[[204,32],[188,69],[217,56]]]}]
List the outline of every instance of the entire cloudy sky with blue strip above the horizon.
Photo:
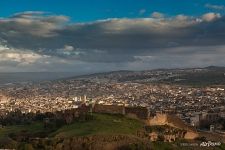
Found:
[{"label": "entire cloudy sky with blue strip above the horizon", "polygon": [[225,65],[223,0],[1,0],[0,72]]}]

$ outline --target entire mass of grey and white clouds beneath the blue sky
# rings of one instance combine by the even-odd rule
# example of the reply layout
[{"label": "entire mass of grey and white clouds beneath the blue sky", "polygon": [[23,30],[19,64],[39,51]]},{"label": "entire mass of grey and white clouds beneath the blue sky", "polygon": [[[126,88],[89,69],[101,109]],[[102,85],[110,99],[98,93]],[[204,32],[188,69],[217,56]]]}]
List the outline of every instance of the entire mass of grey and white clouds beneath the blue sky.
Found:
[{"label": "entire mass of grey and white clouds beneath the blue sky", "polygon": [[0,41],[7,45],[0,59],[39,68],[54,68],[57,64],[94,69],[96,65],[107,70],[107,66],[185,65],[191,56],[195,56],[196,65],[202,65],[211,55],[210,62],[222,64],[218,58],[225,54],[218,51],[218,46],[225,44],[224,26],[225,17],[213,12],[201,17],[166,17],[155,12],[149,18],[87,23],[71,23],[66,16],[45,12],[23,12],[0,19]]}]

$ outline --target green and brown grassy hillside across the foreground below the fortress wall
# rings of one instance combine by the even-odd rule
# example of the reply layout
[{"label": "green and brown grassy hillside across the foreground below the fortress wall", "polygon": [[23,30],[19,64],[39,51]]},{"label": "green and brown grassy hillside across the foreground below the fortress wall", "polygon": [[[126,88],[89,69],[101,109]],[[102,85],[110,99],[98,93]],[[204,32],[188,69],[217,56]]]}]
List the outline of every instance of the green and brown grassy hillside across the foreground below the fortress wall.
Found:
[{"label": "green and brown grassy hillside across the foreground below the fortress wall", "polygon": [[[93,114],[87,121],[75,121],[56,130],[46,130],[42,122],[28,125],[6,126],[0,129],[0,147],[9,149],[48,150],[179,150],[173,143],[156,141],[137,136],[144,123],[122,115]],[[173,118],[169,118],[171,121]],[[172,121],[174,122],[174,121]],[[45,136],[44,136],[45,135]],[[187,141],[183,141],[187,142]],[[218,147],[218,149],[223,149]],[[182,147],[192,149],[192,147]]]}]

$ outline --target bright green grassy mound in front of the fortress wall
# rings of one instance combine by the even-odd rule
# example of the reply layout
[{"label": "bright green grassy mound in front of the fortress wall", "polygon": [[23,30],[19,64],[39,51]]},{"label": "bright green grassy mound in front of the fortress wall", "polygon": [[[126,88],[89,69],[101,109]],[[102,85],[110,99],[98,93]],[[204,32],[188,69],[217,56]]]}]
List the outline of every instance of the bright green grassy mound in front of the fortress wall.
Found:
[{"label": "bright green grassy mound in front of the fortress wall", "polygon": [[120,115],[93,114],[94,119],[66,125],[51,136],[71,137],[95,134],[136,134],[143,127],[141,121]]}]

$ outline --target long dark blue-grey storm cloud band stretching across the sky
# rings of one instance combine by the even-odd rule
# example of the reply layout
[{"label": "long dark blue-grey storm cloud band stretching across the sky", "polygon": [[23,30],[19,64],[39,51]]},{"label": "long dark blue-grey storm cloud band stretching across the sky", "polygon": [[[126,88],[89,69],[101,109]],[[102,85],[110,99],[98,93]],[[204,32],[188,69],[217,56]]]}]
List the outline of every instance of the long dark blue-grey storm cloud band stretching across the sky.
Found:
[{"label": "long dark blue-grey storm cloud band stretching across the sky", "polygon": [[[208,53],[199,47],[225,44],[225,17],[207,13],[201,17],[107,19],[68,23],[66,16],[24,12],[0,19],[0,39],[7,47],[83,62],[118,63],[141,56]],[[180,48],[181,47],[181,48]],[[183,47],[198,47],[183,51]],[[211,51],[211,49],[210,49]],[[138,56],[138,57],[136,57]]]}]

